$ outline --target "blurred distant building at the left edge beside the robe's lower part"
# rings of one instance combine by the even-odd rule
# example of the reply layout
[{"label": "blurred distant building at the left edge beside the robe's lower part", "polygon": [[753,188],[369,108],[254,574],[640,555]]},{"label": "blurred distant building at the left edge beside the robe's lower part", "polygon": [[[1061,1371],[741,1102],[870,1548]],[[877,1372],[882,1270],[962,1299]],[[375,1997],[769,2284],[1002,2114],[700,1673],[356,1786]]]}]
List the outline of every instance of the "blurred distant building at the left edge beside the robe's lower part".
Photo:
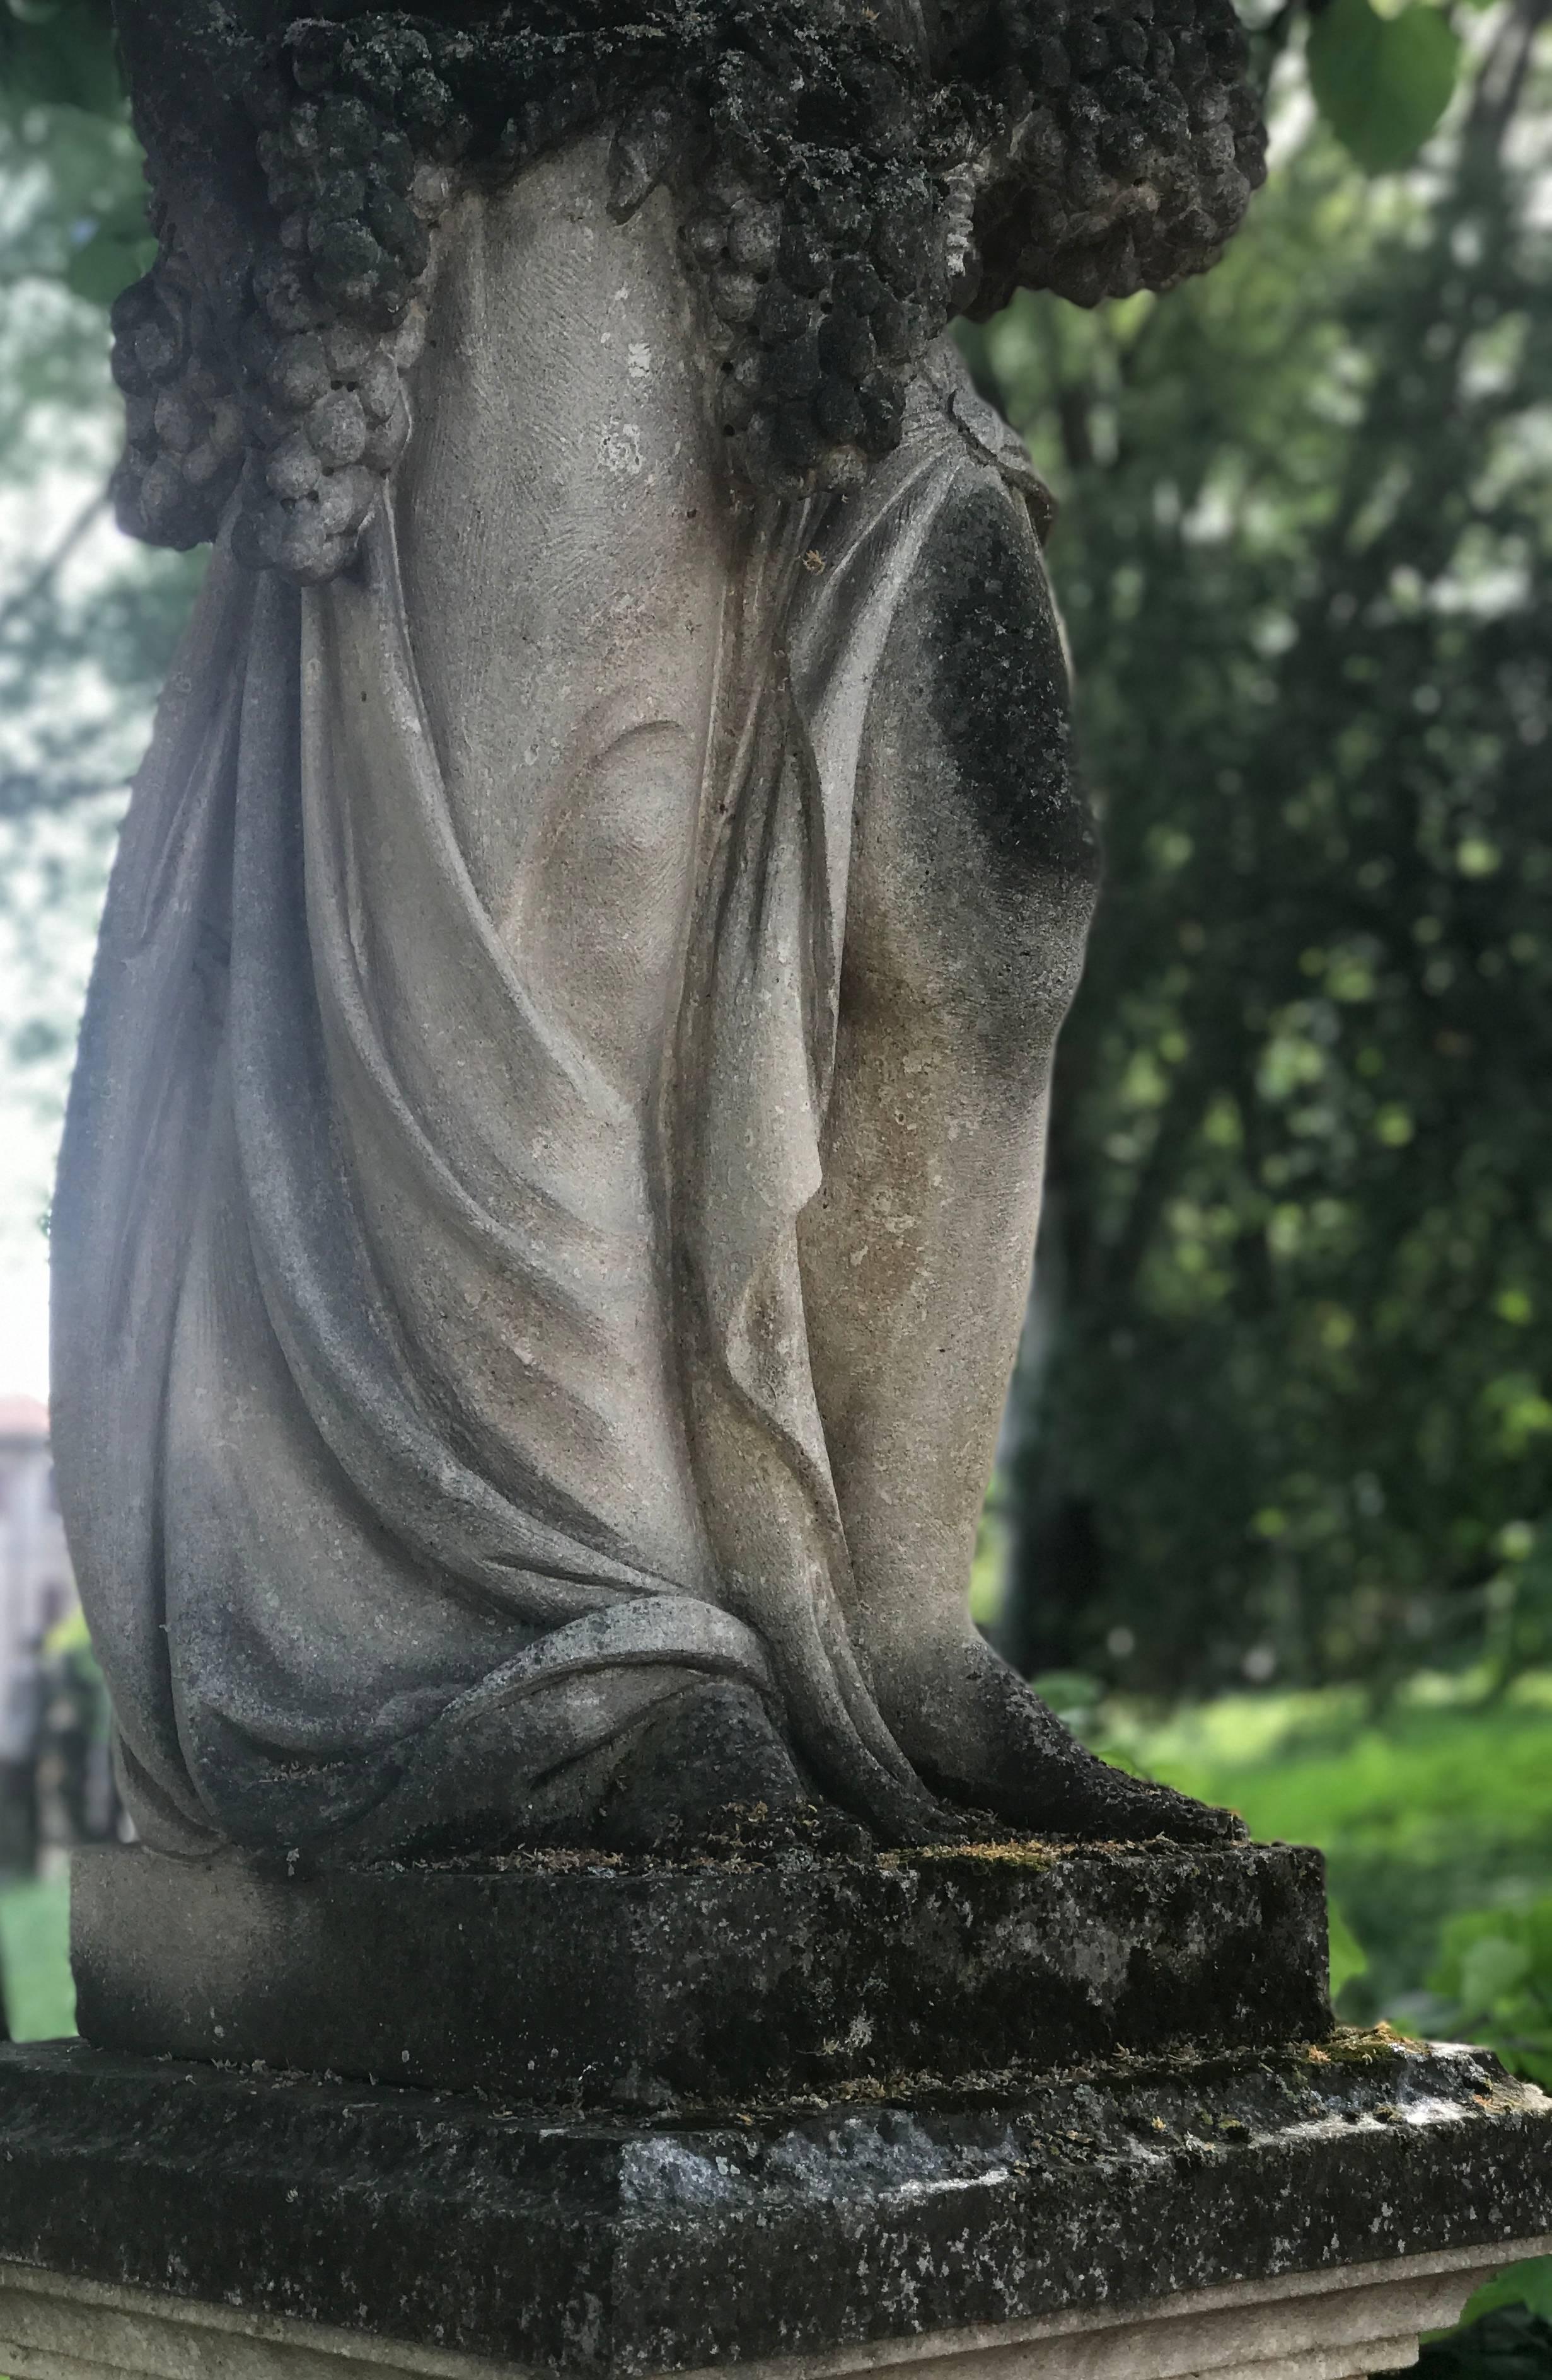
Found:
[{"label": "blurred distant building at the left edge beside the robe's lower part", "polygon": [[36,1652],[74,1609],[48,1407],[0,1397],[0,1764],[31,1759]]}]

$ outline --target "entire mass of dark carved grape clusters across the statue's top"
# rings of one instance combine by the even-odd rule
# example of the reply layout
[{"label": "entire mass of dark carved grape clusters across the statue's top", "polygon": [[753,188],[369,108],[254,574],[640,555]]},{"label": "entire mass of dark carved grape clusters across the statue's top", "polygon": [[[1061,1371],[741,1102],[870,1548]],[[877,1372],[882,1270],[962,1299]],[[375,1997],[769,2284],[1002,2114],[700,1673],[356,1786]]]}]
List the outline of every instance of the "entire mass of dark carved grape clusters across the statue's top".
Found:
[{"label": "entire mass of dark carved grape clusters across the statue's top", "polygon": [[676,190],[731,459],[790,497],[900,443],[952,307],[1169,286],[1264,171],[1231,0],[962,0],[931,64],[826,0],[321,5],[255,93],[269,219],[236,331],[176,245],[114,312],[124,526],[209,538],[240,481],[236,552],[302,585],[350,562],[409,436],[459,176],[614,117],[614,212]]}]

